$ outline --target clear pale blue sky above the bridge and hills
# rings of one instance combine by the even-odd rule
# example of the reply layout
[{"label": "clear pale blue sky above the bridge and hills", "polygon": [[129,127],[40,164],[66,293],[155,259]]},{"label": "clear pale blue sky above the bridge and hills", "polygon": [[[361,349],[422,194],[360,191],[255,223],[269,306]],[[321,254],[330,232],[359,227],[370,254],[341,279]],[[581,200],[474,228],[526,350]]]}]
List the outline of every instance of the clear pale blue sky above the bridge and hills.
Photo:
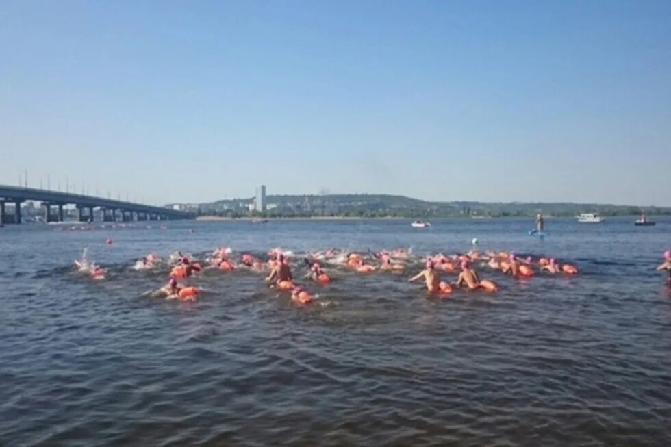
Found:
[{"label": "clear pale blue sky above the bridge and hills", "polygon": [[671,206],[669,1],[0,2],[0,183]]}]

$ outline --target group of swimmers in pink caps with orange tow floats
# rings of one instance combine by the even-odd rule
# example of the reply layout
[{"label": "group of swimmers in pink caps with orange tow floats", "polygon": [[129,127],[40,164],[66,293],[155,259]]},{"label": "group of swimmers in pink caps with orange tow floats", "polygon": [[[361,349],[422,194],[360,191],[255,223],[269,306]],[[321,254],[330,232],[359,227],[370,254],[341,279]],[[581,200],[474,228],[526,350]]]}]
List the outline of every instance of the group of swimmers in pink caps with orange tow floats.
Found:
[{"label": "group of swimmers in pink caps with orange tow floats", "polygon": [[[180,300],[195,300],[199,296],[199,288],[193,285],[185,285],[181,281],[186,281],[186,279],[194,277],[205,269],[231,272],[238,268],[244,268],[259,274],[267,272],[265,281],[268,287],[281,292],[289,292],[294,303],[301,305],[312,303],[314,297],[308,288],[294,281],[290,262],[290,256],[293,253],[273,249],[268,252],[266,261],[262,261],[251,253],[243,253],[236,259],[233,259],[232,255],[231,248],[217,248],[205,259],[205,267],[203,267],[199,261],[193,259],[190,255],[184,255],[180,252],[173,253],[167,259],[170,265],[168,283],[153,292],[153,295]],[[303,257],[302,263],[299,263],[299,265],[305,265],[306,274],[304,279],[325,285],[333,280],[332,275],[325,270],[325,264],[331,268],[345,268],[359,274],[372,274],[376,271],[403,274],[412,261],[410,251],[402,248],[392,251],[383,250],[377,253],[372,251],[368,251],[368,253],[344,253],[336,248],[329,248],[327,251],[312,253]],[[162,259],[152,253],[139,259],[134,265],[134,269],[153,270],[157,268],[160,262],[162,262]],[[490,268],[520,279],[533,277],[536,271],[565,275],[578,273],[575,266],[560,263],[554,258],[519,257],[515,253],[504,251],[498,253],[470,251],[451,256],[442,253],[431,255],[425,259],[424,268],[410,277],[408,281],[412,283],[423,280],[427,292],[438,296],[451,294],[457,288],[470,291],[496,292],[499,288],[498,284],[491,279],[481,279],[479,272],[473,267],[476,263],[484,268]],[[94,279],[105,278],[105,270],[90,261],[86,261],[86,259],[75,261],[75,264],[81,272],[90,274]],[[663,263],[657,267],[657,270],[668,271],[667,281],[671,285],[671,251],[664,253]],[[456,274],[456,280],[453,282],[442,281],[441,275],[444,273]]]}]

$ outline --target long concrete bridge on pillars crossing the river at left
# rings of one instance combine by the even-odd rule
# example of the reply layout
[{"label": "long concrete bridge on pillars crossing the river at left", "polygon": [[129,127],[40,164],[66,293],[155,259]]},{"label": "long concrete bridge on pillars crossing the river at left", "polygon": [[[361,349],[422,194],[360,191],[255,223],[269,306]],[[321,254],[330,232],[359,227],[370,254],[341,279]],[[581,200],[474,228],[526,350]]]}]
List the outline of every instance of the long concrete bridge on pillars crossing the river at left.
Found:
[{"label": "long concrete bridge on pillars crossing the river at left", "polygon": [[[45,222],[63,222],[65,205],[75,205],[79,209],[79,222],[93,222],[96,209],[99,210],[98,214],[103,222],[194,218],[192,213],[165,207],[103,199],[84,194],[0,185],[0,224],[20,224],[22,220],[21,203],[25,201],[42,203],[42,207],[45,208]],[[12,207],[14,212],[10,214]]]}]

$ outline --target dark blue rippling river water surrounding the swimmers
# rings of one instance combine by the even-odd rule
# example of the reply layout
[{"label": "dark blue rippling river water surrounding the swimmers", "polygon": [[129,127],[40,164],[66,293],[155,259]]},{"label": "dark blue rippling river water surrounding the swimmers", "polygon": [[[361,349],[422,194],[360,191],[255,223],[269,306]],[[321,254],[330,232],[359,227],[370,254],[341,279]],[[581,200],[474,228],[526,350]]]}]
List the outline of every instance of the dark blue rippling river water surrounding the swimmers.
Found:
[{"label": "dark blue rippling river water surrounding the swimmers", "polygon": [[[0,233],[0,444],[667,446],[670,222],[520,220],[171,224]],[[195,229],[188,233],[187,229]],[[114,245],[107,247],[105,238]],[[254,274],[207,272],[196,303],[142,296],[157,251],[229,245],[481,248],[575,261],[576,278],[488,273],[495,295],[427,299],[407,276],[343,274],[299,308]],[[110,268],[74,274],[72,259]]]}]

